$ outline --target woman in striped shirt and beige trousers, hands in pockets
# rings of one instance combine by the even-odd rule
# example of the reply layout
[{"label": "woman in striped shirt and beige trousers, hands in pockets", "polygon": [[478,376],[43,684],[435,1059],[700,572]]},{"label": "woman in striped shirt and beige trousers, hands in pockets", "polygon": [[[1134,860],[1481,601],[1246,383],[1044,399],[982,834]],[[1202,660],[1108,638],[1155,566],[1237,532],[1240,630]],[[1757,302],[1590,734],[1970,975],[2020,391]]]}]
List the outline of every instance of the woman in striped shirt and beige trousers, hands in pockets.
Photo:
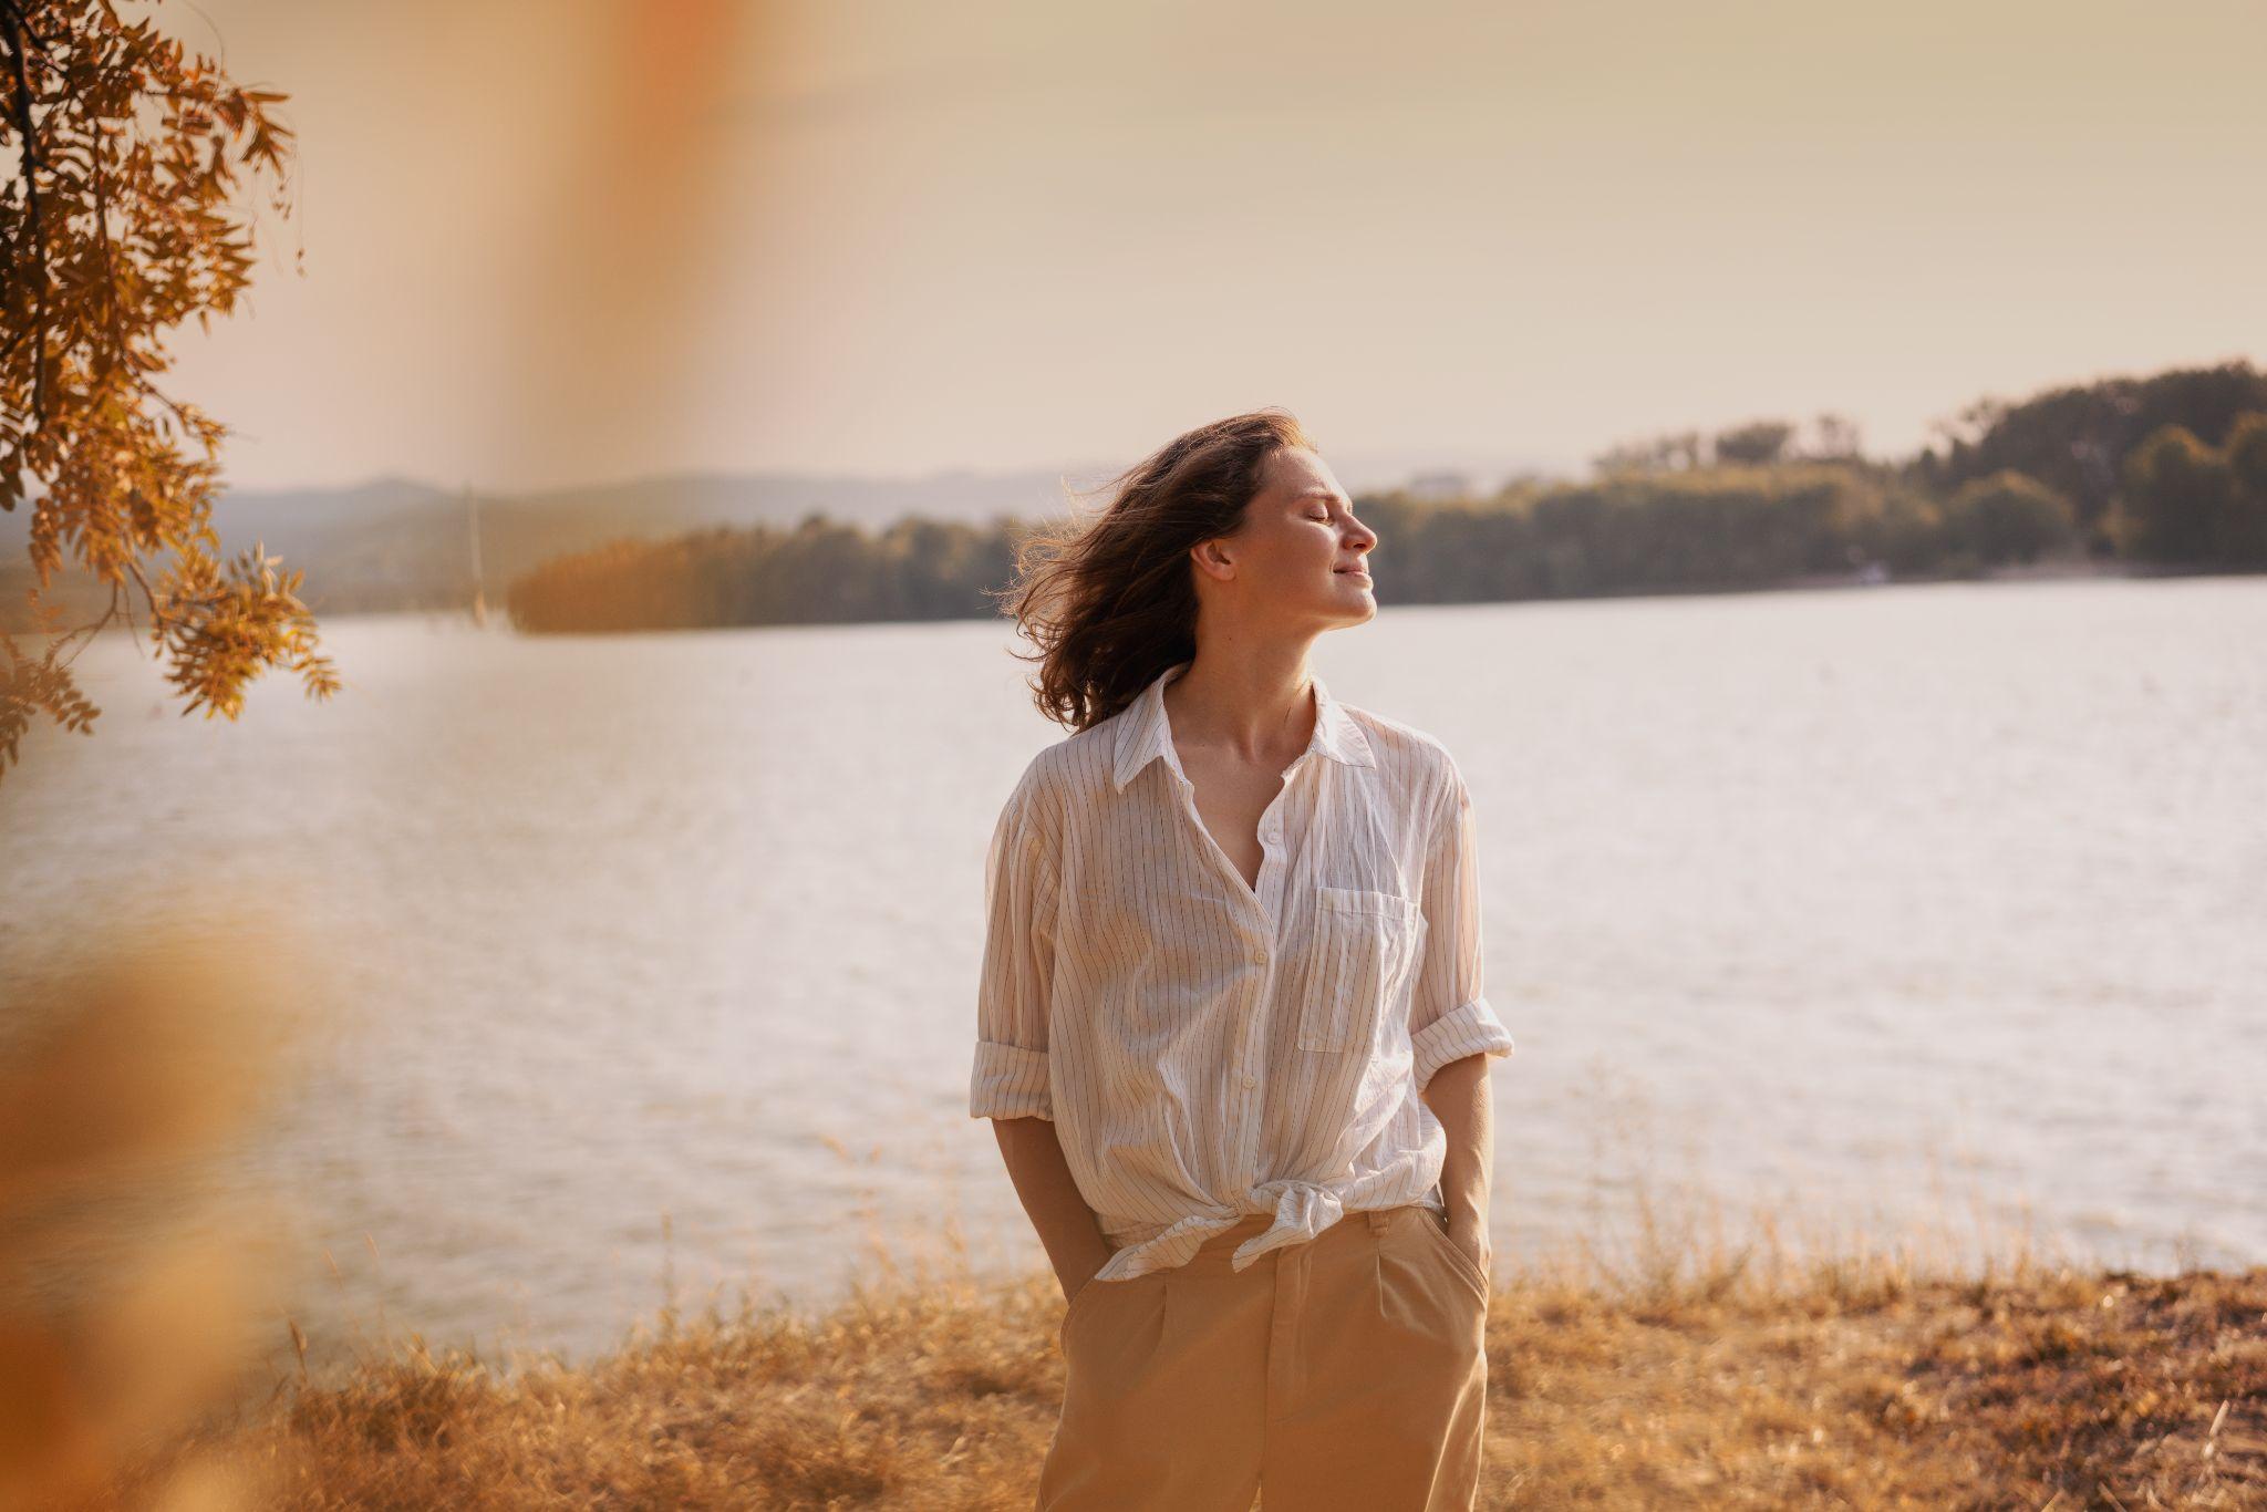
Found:
[{"label": "woman in striped shirt and beige trousers, hands in pockets", "polygon": [[1281,410],[1025,546],[1041,707],[986,861],[970,1115],[1070,1299],[1038,1505],[1469,1507],[1489,1299],[1471,796],[1331,698],[1362,526]]}]

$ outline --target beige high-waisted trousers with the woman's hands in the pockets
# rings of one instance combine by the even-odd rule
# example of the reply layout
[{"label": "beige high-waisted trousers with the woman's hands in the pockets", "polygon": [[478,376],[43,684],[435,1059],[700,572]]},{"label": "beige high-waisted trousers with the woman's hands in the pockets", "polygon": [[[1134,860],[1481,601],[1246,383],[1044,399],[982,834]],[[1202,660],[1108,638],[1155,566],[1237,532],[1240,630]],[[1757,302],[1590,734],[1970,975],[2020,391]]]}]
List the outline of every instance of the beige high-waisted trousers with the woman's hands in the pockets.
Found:
[{"label": "beige high-waisted trousers with the woman's hands in the pockets", "polygon": [[1476,1505],[1489,1279],[1424,1204],[1347,1213],[1236,1272],[1267,1224],[1072,1294],[1041,1512]]}]

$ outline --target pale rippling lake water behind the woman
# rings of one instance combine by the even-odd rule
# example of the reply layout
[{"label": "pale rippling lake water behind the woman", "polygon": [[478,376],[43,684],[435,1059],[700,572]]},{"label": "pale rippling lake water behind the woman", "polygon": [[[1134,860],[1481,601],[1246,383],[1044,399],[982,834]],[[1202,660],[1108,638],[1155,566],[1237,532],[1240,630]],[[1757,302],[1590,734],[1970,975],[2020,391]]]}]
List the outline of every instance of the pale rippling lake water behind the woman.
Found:
[{"label": "pale rippling lake water behind the woman", "polygon": [[[326,1029],[229,1181],[311,1362],[1043,1265],[966,1115],[984,846],[1063,734],[1004,626],[324,642],[333,703],[238,725],[100,642],[97,732],[0,780],[11,979],[190,868],[302,932]],[[1315,669],[1478,805],[1498,1267],[1639,1192],[2267,1263],[2267,578],[1385,608]]]}]

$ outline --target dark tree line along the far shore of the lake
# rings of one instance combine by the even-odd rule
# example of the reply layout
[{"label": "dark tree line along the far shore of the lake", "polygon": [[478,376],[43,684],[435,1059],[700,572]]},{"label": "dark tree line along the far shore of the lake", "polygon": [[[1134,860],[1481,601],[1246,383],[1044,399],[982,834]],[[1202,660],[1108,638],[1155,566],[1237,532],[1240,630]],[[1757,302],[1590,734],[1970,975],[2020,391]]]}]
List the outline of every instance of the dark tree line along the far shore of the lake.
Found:
[{"label": "dark tree line along the far shore of the lake", "polygon": [[[1365,494],[1392,603],[1775,587],[1848,574],[1975,576],[2045,558],[2267,569],[2267,374],[2249,363],[1979,401],[1938,444],[1875,460],[1857,426],[1755,419],[1619,444],[1587,481],[1480,499]],[[984,619],[1018,517],[807,515],[553,558],[508,589],[521,630]]]}]

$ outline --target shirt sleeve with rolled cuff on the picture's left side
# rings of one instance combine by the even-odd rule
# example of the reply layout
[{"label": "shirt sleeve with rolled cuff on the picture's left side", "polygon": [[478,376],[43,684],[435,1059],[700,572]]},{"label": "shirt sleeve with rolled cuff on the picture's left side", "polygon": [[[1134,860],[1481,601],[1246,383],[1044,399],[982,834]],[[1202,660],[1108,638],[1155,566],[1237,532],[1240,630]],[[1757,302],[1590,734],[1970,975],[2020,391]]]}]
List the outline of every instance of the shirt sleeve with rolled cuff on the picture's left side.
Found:
[{"label": "shirt sleeve with rolled cuff on the picture's left side", "polygon": [[1031,782],[993,825],[984,861],[984,966],[970,1118],[1054,1118],[1047,997],[1054,984],[1056,866]]}]

